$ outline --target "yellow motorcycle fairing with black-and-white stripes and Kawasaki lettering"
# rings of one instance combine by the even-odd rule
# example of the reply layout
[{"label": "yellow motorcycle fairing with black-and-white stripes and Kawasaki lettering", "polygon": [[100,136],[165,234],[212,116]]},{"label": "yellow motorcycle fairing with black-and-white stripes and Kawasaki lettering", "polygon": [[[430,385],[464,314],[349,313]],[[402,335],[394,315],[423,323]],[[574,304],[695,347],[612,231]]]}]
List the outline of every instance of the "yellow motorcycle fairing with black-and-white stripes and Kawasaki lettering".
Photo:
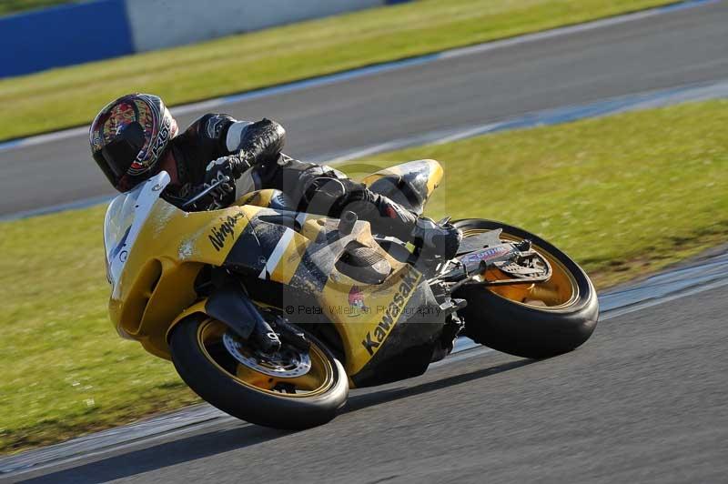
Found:
[{"label": "yellow motorcycle fairing with black-and-white stripes and Kawasaki lettering", "polygon": [[[438,174],[428,167],[428,173],[439,181],[441,168]],[[342,237],[337,219],[266,207],[275,190],[238,199],[263,207],[188,213],[159,197],[168,182],[162,172],[116,197],[106,213],[109,315],[122,337],[169,359],[171,328],[207,311],[197,287],[203,268],[227,267],[246,287],[303,295],[304,302],[296,299],[290,311],[285,298],[274,301],[292,323],[297,313],[318,313],[333,323],[352,384],[379,384],[427,368],[444,315],[420,272],[379,247],[369,223],[358,221]],[[339,271],[336,263],[349,244],[386,258],[389,277],[367,285]]]}]

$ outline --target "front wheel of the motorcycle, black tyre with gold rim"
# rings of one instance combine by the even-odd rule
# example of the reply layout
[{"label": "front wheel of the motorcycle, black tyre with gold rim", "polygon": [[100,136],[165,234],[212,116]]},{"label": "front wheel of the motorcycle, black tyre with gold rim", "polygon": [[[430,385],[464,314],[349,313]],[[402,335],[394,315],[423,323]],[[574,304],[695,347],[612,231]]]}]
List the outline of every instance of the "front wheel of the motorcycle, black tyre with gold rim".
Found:
[{"label": "front wheel of the motorcycle, black tyre with gold rim", "polygon": [[222,322],[195,315],[179,322],[169,337],[177,373],[213,406],[266,427],[307,429],[336,417],[346,402],[346,372],[318,339],[307,334],[311,345],[306,374],[294,368],[291,374],[273,376],[275,365],[256,368],[254,353],[247,353],[253,362],[248,366],[234,358],[224,344],[226,333]]}]

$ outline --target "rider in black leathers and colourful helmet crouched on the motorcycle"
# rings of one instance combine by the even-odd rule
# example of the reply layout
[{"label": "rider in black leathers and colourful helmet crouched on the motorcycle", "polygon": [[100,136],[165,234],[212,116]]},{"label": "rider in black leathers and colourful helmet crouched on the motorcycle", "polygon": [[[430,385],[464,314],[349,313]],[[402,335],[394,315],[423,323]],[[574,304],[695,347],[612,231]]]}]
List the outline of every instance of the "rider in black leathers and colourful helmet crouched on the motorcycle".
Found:
[{"label": "rider in black leathers and colourful helmet crouched on the motorcycle", "polygon": [[[372,232],[413,242],[426,252],[455,256],[460,232],[450,224],[417,217],[388,197],[376,194],[329,166],[304,163],[281,153],[286,132],[275,121],[251,123],[207,114],[177,136],[177,122],[158,96],[131,94],[105,106],[90,128],[91,152],[119,191],[165,170],[171,178],[166,199],[184,200],[216,181],[249,176],[252,189],[277,188],[299,210],[338,217],[352,210]],[[227,207],[235,189],[220,183],[212,204]]]}]

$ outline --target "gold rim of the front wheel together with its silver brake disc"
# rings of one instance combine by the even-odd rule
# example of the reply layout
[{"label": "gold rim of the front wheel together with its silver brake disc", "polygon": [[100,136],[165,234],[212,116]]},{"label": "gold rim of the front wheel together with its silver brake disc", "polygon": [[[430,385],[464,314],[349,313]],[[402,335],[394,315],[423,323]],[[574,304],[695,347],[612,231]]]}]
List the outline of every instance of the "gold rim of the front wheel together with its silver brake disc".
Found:
[{"label": "gold rim of the front wheel together with its silver brake disc", "polygon": [[[325,393],[334,384],[333,365],[313,342],[308,353],[286,346],[272,358],[240,345],[242,363],[226,348],[227,333],[225,324],[207,319],[197,328],[197,343],[210,363],[244,387],[276,397],[309,398]],[[304,354],[306,358],[301,358]],[[300,365],[301,360],[308,360],[308,364]]]}]

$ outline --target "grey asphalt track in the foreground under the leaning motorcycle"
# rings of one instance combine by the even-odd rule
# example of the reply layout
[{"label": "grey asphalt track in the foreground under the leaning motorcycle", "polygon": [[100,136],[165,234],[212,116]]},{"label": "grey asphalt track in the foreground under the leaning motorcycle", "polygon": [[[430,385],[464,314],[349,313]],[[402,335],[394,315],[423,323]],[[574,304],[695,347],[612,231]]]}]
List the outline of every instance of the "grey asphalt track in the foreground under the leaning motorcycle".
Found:
[{"label": "grey asphalt track in the foreground under the leaning motorcycle", "polygon": [[558,358],[466,351],[420,378],[355,390],[317,429],[222,419],[23,478],[725,482],[726,297],[724,284],[605,318],[584,346]]}]

